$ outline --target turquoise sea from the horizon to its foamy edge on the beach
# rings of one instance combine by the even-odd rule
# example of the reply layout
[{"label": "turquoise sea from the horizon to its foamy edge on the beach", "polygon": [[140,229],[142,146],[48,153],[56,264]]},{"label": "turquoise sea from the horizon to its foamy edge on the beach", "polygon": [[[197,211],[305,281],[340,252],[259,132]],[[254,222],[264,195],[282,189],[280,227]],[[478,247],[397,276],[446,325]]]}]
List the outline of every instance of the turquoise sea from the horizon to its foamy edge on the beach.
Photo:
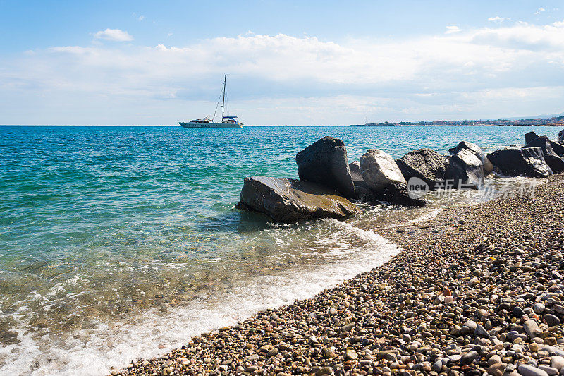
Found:
[{"label": "turquoise sea from the horizon to its foamy edge on the beach", "polygon": [[[432,214],[277,225],[233,210],[243,178],[297,178],[324,135],[350,160],[522,145],[556,127],[0,127],[0,373],[103,374],[306,298],[398,250],[372,229]],[[160,347],[160,348],[159,348]]]}]

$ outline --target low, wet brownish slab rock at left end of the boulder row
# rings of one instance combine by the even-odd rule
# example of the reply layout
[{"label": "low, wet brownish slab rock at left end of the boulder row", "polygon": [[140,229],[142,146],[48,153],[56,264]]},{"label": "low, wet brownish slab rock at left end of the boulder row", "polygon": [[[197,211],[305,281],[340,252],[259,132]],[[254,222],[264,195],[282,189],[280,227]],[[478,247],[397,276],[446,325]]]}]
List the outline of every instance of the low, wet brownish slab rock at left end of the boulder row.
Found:
[{"label": "low, wet brownish slab rock at left end of the boulder row", "polygon": [[360,212],[352,202],[325,186],[264,176],[245,178],[237,207],[262,212],[276,222],[344,219]]}]

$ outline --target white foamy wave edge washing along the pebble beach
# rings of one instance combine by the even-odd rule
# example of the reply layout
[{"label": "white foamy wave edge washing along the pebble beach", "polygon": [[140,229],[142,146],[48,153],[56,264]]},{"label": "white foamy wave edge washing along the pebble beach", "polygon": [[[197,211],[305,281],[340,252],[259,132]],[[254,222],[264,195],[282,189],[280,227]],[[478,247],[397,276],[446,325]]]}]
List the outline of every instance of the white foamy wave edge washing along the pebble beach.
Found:
[{"label": "white foamy wave edge washing along the pebble beach", "polygon": [[[233,325],[238,320],[264,310],[311,298],[324,289],[377,267],[398,253],[373,231],[358,229],[345,222],[326,220],[331,226],[329,262],[305,270],[254,277],[230,291],[207,296],[189,306],[173,308],[167,315],[147,310],[127,322],[99,323],[94,329],[81,329],[68,336],[65,344],[56,337],[33,340],[19,332],[20,343],[0,348],[6,357],[0,373],[5,375],[104,375],[121,368],[129,360],[149,358],[180,347],[190,337],[212,329]],[[337,242],[335,242],[337,241]],[[164,348],[158,348],[158,346]],[[35,368],[34,363],[39,367]]]}]

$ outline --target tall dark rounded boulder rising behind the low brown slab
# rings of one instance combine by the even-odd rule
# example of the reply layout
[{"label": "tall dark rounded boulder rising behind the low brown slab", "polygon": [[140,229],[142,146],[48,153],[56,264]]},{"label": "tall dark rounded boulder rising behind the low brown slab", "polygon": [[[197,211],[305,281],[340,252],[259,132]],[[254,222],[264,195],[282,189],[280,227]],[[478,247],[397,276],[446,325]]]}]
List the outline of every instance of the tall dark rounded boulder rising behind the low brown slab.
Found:
[{"label": "tall dark rounded boulder rising behind the low brown slab", "polygon": [[300,180],[312,181],[353,197],[355,186],[348,168],[347,148],[338,138],[324,137],[295,156]]}]

